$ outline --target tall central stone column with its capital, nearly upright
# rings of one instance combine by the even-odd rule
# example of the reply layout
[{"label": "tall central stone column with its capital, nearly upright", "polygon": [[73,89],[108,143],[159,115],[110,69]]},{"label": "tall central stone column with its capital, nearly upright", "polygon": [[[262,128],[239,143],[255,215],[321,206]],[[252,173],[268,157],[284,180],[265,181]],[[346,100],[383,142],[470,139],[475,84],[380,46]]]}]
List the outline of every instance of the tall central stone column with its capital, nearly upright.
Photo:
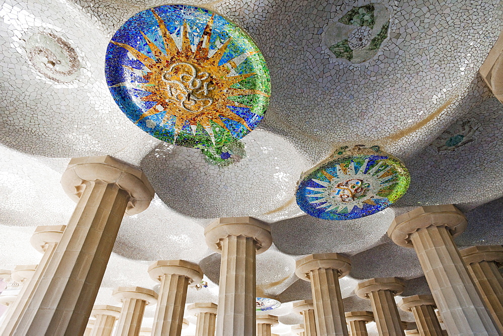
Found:
[{"label": "tall central stone column with its capital, nearly upright", "polygon": [[216,334],[255,335],[255,256],[271,246],[270,226],[251,217],[219,218],[204,235],[206,244],[222,254]]}]

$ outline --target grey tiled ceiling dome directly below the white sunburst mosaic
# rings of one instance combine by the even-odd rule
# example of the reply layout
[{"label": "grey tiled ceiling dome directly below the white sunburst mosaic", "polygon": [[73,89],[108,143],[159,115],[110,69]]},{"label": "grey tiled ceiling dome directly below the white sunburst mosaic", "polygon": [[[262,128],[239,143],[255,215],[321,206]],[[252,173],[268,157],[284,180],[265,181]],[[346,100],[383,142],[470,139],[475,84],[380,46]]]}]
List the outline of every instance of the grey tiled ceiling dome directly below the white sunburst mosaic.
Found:
[{"label": "grey tiled ceiling dome directly below the white sunburst mosaic", "polygon": [[272,223],[271,234],[276,247],[292,256],[357,253],[377,243],[393,218],[392,209],[351,220],[332,221],[301,216]]}]

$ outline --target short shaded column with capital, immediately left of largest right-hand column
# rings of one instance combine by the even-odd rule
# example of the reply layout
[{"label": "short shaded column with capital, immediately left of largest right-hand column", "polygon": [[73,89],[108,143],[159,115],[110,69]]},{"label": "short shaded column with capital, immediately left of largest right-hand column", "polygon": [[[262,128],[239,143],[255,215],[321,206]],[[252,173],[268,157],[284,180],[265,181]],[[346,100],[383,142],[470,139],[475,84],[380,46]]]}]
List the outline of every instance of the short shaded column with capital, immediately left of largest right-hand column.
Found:
[{"label": "short shaded column with capital, immediately left of largest right-hand column", "polygon": [[442,328],[435,313],[435,300],[433,295],[412,295],[404,297],[398,302],[398,307],[403,311],[414,314],[417,329],[422,335],[441,336]]}]

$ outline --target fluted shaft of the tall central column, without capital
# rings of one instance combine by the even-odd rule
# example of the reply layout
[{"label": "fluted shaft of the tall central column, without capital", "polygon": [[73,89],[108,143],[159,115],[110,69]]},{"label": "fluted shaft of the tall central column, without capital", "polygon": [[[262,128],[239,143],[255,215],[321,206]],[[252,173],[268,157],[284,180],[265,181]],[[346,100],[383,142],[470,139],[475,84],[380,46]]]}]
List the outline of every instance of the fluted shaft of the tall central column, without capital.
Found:
[{"label": "fluted shaft of the tall central column, without capital", "polygon": [[227,236],[222,240],[217,335],[256,333],[255,252],[253,238]]}]

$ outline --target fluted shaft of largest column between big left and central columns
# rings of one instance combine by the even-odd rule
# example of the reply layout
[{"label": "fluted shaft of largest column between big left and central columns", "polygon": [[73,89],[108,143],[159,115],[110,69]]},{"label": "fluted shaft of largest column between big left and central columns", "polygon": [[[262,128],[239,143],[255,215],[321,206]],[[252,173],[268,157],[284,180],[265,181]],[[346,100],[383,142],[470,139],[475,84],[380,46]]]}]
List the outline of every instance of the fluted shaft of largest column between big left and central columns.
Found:
[{"label": "fluted shaft of largest column between big left and central columns", "polygon": [[152,335],[180,336],[190,279],[179,274],[163,274],[155,310]]}]

